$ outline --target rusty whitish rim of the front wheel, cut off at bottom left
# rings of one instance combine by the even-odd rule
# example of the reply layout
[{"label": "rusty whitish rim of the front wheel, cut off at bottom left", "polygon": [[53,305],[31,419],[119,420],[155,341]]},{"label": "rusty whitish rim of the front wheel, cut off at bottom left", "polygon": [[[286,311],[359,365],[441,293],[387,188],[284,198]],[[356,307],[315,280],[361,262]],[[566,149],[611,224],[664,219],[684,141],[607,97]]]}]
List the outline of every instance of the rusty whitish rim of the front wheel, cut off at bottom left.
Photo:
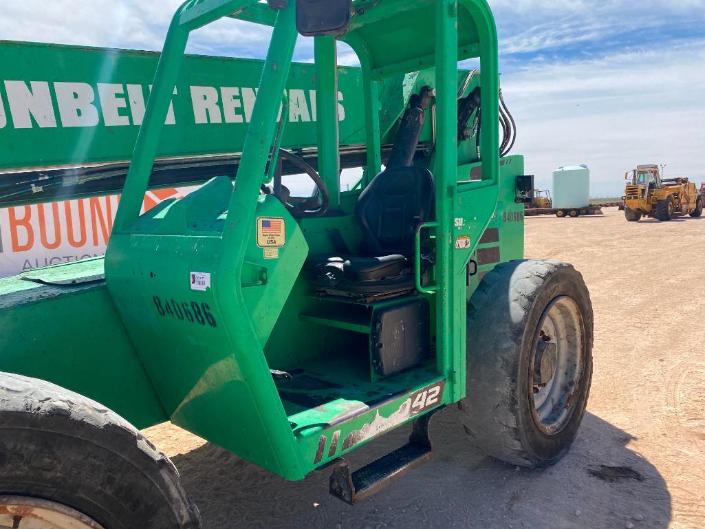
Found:
[{"label": "rusty whitish rim of the front wheel, cut off at bottom left", "polygon": [[104,529],[65,505],[45,499],[0,497],[0,529]]}]

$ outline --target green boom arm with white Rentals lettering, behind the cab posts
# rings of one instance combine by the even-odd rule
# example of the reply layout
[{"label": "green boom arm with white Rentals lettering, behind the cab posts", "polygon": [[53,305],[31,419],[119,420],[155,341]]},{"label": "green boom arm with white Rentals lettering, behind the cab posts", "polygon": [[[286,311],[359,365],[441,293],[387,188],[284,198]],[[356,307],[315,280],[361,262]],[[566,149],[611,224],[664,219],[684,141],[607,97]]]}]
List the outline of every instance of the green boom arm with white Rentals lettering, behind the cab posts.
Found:
[{"label": "green boom arm with white Rentals lettering, behind the cab posts", "polygon": [[[6,87],[0,90],[0,115],[5,119],[5,126],[0,126],[0,207],[119,193],[158,60],[159,54],[145,51],[0,41],[0,62],[5,65],[0,85]],[[150,188],[196,185],[223,174],[235,176],[262,65],[250,59],[184,57],[149,177]],[[316,77],[311,64],[293,65],[286,88],[292,105],[283,115],[287,123],[281,144],[314,168],[318,166],[320,121]],[[341,169],[364,166],[363,75],[360,68],[338,67],[337,77]],[[94,121],[66,126],[62,116],[69,115],[71,107],[57,94],[67,87],[51,82],[55,78],[76,81],[69,88],[83,91],[87,98],[83,109],[95,116]],[[433,79],[431,70],[398,75],[381,90],[382,163],[391,149],[397,118],[411,95],[407,85],[412,80],[431,83]],[[23,92],[29,92],[32,99],[20,97]],[[56,126],[41,126],[27,101],[43,105],[44,115]],[[29,128],[21,121],[25,113],[30,116]],[[419,150],[428,149],[431,142],[431,126],[426,126]],[[294,173],[284,162],[283,174]]]}]

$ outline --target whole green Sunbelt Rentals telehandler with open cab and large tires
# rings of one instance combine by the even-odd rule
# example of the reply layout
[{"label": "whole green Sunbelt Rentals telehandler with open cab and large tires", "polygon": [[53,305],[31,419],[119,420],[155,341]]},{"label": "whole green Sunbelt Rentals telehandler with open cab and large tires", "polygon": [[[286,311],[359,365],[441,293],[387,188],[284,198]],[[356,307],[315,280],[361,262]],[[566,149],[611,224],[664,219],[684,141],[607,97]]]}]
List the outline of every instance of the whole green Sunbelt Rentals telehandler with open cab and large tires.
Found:
[{"label": "whole green Sunbelt Rentals telehandler with open cab and large tires", "polygon": [[[234,92],[191,90],[206,111],[174,119],[194,70],[190,32],[227,17],[273,27],[232,143]],[[292,63],[299,34],[314,38],[314,66]],[[337,67],[338,40],[357,73]],[[480,71],[459,70],[467,59]],[[200,83],[227,68],[209,64]],[[292,80],[313,83],[306,126],[290,111]],[[344,119],[339,82],[360,87]],[[64,96],[65,84],[54,87]],[[41,87],[25,87],[21,100],[36,102]],[[23,114],[20,99],[3,114],[0,134],[22,116],[49,123],[15,123],[17,142],[4,142],[16,147],[4,158],[27,154],[4,162],[18,170],[5,205],[109,190],[94,163],[75,180],[39,171],[42,186],[19,171],[57,164],[61,153],[30,163],[54,143],[23,138],[90,118],[90,103],[66,111],[84,89],[59,98],[54,122]],[[111,126],[117,107],[102,107]],[[198,128],[204,116],[218,127]],[[468,446],[501,461],[541,468],[568,451],[591,383],[589,292],[572,266],[523,258],[532,178],[507,155],[513,119],[485,0],[189,0],[132,118],[141,126],[104,259],[0,280],[0,526],[200,527],[176,468],[140,433],[166,421],[287,480],[327,469],[331,494],[350,504],[428,461],[429,423],[449,405]],[[86,130],[67,128],[63,164],[123,138]],[[89,161],[120,162],[108,158]],[[355,166],[360,181],[341,190]],[[306,193],[293,194],[291,175],[310,178]],[[205,179],[140,214],[149,188]],[[406,423],[407,444],[350,468],[346,454]]]}]

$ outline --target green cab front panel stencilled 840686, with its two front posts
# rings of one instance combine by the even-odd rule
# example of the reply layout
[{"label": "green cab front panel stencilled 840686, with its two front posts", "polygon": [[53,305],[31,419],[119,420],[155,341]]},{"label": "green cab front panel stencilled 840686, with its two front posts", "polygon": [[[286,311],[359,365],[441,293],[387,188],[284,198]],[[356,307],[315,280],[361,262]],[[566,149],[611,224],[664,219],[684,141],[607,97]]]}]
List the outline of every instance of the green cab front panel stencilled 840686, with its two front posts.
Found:
[{"label": "green cab front panel stencilled 840686, with its two front posts", "polygon": [[[188,36],[178,25],[177,13],[116,217],[106,276],[118,312],[173,422],[286,478],[300,479],[307,468],[259,345],[259,338],[266,339],[268,332],[257,330],[273,325],[281,308],[277,310],[274,300],[262,300],[262,290],[251,291],[262,285],[249,280],[251,266],[257,266],[257,261],[250,264],[256,253],[261,262],[266,250],[277,250],[276,266],[266,267],[260,281],[268,296],[283,303],[307,255],[300,228],[281,203],[271,195],[258,200],[293,54],[293,17],[293,6],[278,12],[237,186],[233,189],[227,178],[216,179],[192,193],[190,203],[180,201],[164,209],[166,227],[160,231],[135,219]],[[223,186],[229,189],[223,192]],[[210,233],[200,225],[194,229],[190,221],[218,219],[223,212],[224,218]],[[258,217],[278,219],[286,245],[257,247]],[[209,274],[209,288],[194,290],[192,272]],[[212,321],[199,325],[171,317],[166,308],[159,310],[163,300],[208,310]]]}]

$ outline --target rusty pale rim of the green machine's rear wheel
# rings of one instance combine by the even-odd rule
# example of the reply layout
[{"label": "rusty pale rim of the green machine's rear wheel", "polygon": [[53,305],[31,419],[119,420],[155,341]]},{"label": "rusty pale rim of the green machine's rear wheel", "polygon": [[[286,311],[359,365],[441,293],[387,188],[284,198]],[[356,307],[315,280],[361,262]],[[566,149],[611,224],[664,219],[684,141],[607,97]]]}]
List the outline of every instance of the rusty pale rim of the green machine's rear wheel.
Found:
[{"label": "rusty pale rim of the green machine's rear wheel", "polygon": [[558,434],[570,421],[582,389],[585,327],[575,300],[559,296],[541,315],[529,364],[529,402],[537,427]]}]

